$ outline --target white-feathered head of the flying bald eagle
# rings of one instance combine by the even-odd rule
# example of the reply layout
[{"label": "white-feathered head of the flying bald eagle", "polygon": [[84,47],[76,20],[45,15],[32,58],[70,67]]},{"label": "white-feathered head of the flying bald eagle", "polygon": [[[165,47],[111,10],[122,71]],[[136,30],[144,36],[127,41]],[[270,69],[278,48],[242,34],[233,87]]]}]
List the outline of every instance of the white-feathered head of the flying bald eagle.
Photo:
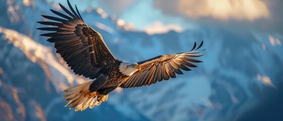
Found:
[{"label": "white-feathered head of the flying bald eagle", "polygon": [[137,63],[122,62],[119,66],[119,72],[124,75],[132,76],[136,71],[140,71],[141,66]]}]

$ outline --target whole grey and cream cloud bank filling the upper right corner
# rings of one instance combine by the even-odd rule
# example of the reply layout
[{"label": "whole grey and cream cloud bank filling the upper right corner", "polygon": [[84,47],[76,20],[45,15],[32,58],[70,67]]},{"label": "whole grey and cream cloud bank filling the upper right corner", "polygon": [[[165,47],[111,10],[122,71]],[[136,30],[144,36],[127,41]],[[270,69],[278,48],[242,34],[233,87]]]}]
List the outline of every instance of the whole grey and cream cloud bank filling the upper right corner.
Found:
[{"label": "whole grey and cream cloud bank filling the upper right corner", "polygon": [[165,16],[185,19],[184,23],[276,34],[283,32],[281,0],[154,0],[153,5]]}]

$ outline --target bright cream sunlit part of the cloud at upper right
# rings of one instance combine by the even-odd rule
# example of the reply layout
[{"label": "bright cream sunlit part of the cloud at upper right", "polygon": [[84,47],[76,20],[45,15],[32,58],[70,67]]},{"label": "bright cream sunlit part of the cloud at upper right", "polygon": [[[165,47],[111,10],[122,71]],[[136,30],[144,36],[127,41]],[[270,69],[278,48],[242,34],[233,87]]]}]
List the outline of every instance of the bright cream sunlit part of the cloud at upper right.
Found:
[{"label": "bright cream sunlit part of the cloud at upper right", "polygon": [[269,10],[261,0],[179,0],[180,13],[191,17],[212,17],[220,20],[268,18]]}]

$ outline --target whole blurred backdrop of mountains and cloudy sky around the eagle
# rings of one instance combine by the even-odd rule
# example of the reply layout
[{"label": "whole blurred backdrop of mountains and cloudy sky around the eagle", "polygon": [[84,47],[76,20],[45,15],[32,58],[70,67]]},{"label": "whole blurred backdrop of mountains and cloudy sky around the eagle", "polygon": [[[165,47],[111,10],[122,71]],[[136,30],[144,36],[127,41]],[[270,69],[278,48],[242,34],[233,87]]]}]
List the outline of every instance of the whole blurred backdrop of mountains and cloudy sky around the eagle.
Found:
[{"label": "whole blurred backdrop of mountains and cloudy sky around the eagle", "polygon": [[[57,0],[0,0],[0,120],[282,120],[282,1],[70,1],[119,59],[140,62],[204,41],[203,63],[171,81],[118,88],[75,112],[74,75],[39,36]],[[55,15],[54,15],[55,16]],[[46,21],[46,20],[44,20]]]}]

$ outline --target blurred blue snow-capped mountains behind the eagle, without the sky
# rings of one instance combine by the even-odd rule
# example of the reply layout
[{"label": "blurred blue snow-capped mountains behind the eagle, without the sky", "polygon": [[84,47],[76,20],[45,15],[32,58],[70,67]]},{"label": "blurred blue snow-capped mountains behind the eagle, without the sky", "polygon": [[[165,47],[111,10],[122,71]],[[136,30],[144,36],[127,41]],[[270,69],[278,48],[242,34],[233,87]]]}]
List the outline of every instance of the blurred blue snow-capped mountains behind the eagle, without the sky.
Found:
[{"label": "blurred blue snow-capped mountains behind the eagle, without the sky", "polygon": [[[77,5],[79,7],[79,5]],[[201,26],[148,35],[101,9],[81,11],[119,59],[140,62],[191,50],[204,40],[203,63],[176,79],[118,89],[108,101],[75,112],[62,90],[88,81],[76,76],[35,28],[56,3],[0,2],[0,117],[4,120],[229,120],[253,107],[283,81],[280,35]]]}]

